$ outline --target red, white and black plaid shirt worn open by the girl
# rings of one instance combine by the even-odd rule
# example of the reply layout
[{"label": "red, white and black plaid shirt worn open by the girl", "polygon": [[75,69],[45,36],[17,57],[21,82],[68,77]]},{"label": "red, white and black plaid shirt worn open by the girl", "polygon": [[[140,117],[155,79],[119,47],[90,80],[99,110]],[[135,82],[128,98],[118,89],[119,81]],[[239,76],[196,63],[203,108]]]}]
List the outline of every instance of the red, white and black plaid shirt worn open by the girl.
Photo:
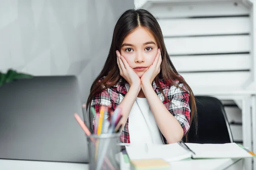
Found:
[{"label": "red, white and black plaid shirt worn open by the girl", "polygon": [[[186,132],[189,130],[190,122],[189,94],[183,90],[187,90],[186,86],[183,85],[183,83],[180,83],[179,81],[174,81],[174,84],[179,86],[180,88],[176,87],[175,85],[169,87],[167,83],[165,83],[165,81],[160,81],[161,87],[158,87],[156,83],[153,81],[152,86],[157,96],[166,106],[168,111],[172,113],[172,115],[175,116],[177,121],[180,123],[181,127],[183,128],[183,135],[185,135]],[[171,102],[164,98],[163,94],[160,91],[160,88],[163,89],[165,96]],[[125,86],[121,85],[120,79],[120,81],[116,85],[94,96],[91,106],[95,108],[95,111],[97,113],[99,112],[101,105],[111,105],[111,108],[115,110],[116,107],[122,102],[122,99],[125,97],[125,94],[127,94],[127,89]],[[120,142],[122,143],[130,143],[128,125],[129,120],[127,119],[124,129],[122,130],[120,135]],[[167,140],[164,138],[164,136],[163,140],[164,143],[167,144]]]}]

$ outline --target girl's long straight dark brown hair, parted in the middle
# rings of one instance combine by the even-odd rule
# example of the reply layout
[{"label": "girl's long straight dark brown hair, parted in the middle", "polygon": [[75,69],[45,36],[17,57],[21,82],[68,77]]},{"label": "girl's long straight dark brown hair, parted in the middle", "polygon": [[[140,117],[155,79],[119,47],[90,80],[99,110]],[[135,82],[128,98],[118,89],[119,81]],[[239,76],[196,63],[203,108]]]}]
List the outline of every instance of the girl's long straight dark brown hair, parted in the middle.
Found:
[{"label": "girl's long straight dark brown hair, parted in the middle", "polygon": [[[157,41],[158,47],[161,49],[161,55],[162,55],[161,70],[160,70],[160,73],[157,75],[157,77],[155,77],[154,79],[157,86],[160,87],[160,83],[159,83],[160,79],[164,79],[168,81],[169,85],[174,85],[173,81],[178,80],[186,86],[187,90],[186,89],[183,89],[183,90],[189,93],[189,102],[191,105],[191,113],[190,113],[191,115],[190,124],[191,124],[192,120],[194,119],[196,120],[196,115],[197,115],[194,94],[191,88],[189,87],[189,85],[186,83],[186,81],[181,77],[179,77],[177,70],[172,64],[172,61],[169,57],[169,54],[167,53],[166,46],[163,41],[163,34],[161,31],[161,28],[157,20],[149,11],[145,9],[129,9],[125,11],[117,20],[116,26],[113,31],[113,38],[112,38],[111,47],[108,53],[107,60],[105,62],[105,65],[102,71],[100,72],[98,77],[94,80],[90,88],[90,94],[87,99],[86,109],[88,109],[88,107],[91,105],[93,96],[101,93],[102,91],[110,88],[113,85],[116,85],[119,79],[122,79],[123,80],[122,82],[125,81],[125,79],[123,79],[119,74],[119,68],[116,61],[116,50],[120,51],[122,42],[125,39],[125,37],[137,27],[143,27],[148,29],[151,32],[151,34],[153,34],[155,40]],[[103,77],[105,78],[102,79]],[[100,79],[101,81],[99,81]],[[165,97],[165,99],[168,101],[167,97],[164,95],[163,90],[161,88],[160,88],[160,91]],[[90,122],[91,122],[91,119],[92,119],[92,115],[89,109]]]}]

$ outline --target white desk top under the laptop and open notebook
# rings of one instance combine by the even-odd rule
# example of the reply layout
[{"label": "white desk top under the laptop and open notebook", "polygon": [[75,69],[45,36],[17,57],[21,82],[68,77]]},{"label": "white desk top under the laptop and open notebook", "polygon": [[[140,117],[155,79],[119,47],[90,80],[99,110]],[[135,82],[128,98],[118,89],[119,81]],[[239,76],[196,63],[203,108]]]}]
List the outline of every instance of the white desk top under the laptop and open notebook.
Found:
[{"label": "white desk top under the laptop and open notebook", "polygon": [[[170,170],[242,170],[243,159],[204,159],[172,162]],[[88,164],[0,159],[0,170],[88,170]],[[129,170],[129,165],[122,170]]]}]

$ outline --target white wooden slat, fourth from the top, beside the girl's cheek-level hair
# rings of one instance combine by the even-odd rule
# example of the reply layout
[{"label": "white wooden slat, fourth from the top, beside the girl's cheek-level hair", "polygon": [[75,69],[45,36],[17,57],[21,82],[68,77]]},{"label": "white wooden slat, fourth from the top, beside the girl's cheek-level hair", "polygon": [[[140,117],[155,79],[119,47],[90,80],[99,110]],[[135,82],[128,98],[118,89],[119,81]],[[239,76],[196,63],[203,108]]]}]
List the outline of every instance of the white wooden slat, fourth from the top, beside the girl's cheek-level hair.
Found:
[{"label": "white wooden slat, fourth from the top, beside the girl's cheek-level hair", "polygon": [[248,70],[250,54],[225,54],[170,57],[177,71]]}]

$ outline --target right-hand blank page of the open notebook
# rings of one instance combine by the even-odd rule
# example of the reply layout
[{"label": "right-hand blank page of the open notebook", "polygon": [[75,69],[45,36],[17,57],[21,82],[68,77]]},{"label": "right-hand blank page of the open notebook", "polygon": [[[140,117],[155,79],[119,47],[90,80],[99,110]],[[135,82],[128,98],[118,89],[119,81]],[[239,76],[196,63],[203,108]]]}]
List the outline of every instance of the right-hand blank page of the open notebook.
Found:
[{"label": "right-hand blank page of the open notebook", "polygon": [[227,144],[195,144],[186,143],[195,152],[193,158],[247,158],[250,153],[239,147],[236,143]]}]

